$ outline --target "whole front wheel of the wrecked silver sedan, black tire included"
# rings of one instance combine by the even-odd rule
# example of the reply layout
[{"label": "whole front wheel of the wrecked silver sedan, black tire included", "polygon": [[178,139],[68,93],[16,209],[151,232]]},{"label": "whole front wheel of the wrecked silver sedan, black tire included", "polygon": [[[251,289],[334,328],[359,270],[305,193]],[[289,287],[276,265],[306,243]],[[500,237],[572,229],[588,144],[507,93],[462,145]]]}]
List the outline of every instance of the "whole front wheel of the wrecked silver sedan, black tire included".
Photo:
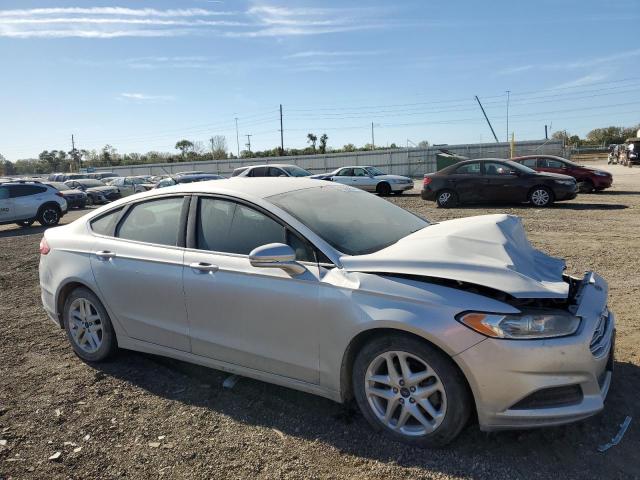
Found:
[{"label": "whole front wheel of the wrecked silver sedan, black tire included", "polygon": [[[425,375],[415,383],[403,379],[399,364],[402,358],[414,375]],[[389,375],[389,361],[395,375]],[[371,380],[373,375],[391,379],[379,383]],[[420,398],[419,392],[427,389],[433,392]],[[374,339],[358,352],[353,391],[374,430],[423,448],[447,445],[465,427],[471,412],[471,395],[453,361],[427,342],[403,335]],[[381,397],[380,393],[390,397]]]}]

